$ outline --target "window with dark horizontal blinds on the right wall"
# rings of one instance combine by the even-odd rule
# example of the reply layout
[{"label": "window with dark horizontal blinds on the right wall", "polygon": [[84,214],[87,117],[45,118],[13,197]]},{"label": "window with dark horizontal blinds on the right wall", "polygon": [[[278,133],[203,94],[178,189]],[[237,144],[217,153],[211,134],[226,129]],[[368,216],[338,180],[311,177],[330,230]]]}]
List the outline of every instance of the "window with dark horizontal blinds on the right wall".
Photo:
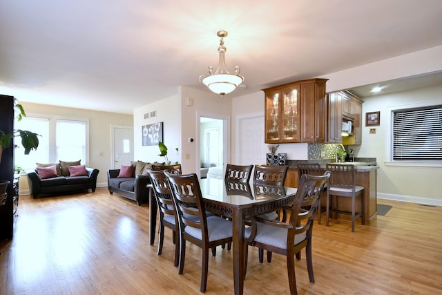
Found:
[{"label": "window with dark horizontal blinds on the right wall", "polygon": [[393,160],[442,160],[442,106],[393,111]]}]

